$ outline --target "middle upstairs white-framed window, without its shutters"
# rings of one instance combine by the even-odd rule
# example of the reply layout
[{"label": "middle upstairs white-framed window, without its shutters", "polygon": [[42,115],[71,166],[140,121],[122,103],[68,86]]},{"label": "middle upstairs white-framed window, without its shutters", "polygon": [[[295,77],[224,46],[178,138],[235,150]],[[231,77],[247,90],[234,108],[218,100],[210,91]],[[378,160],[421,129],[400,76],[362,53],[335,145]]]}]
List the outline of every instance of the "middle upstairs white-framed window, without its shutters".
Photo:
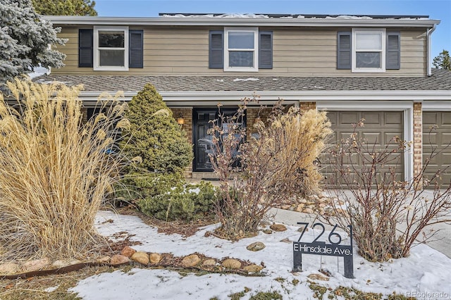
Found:
[{"label": "middle upstairs white-framed window, without its shutters", "polygon": [[257,71],[257,28],[225,28],[224,70]]}]

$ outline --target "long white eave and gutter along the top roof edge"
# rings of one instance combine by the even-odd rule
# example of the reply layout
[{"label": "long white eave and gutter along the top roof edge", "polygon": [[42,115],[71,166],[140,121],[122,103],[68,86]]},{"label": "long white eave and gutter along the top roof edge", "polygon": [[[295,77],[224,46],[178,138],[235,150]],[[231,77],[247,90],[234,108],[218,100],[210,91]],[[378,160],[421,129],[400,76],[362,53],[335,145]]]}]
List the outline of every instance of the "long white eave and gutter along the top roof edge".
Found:
[{"label": "long white eave and gutter along the top roof edge", "polygon": [[341,18],[129,18],[78,15],[43,15],[54,25],[166,25],[166,26],[274,26],[274,27],[432,27],[432,19],[341,19]]}]

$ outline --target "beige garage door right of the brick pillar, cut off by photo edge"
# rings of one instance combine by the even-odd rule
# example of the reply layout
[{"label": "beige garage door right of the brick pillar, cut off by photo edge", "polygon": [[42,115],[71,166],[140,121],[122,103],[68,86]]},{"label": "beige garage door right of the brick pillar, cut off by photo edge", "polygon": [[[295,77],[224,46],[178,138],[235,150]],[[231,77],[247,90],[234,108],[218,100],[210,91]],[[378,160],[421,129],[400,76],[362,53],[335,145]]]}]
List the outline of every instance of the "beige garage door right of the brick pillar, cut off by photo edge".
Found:
[{"label": "beige garage door right of the brick pillar, cut off by photo edge", "polygon": [[[437,125],[435,130],[430,132],[430,128]],[[425,111],[423,112],[423,158],[426,160],[431,156],[431,152],[435,149],[435,153],[440,151],[426,168],[426,178],[431,178],[442,168],[446,168],[451,164],[451,146],[447,146],[451,142],[451,112],[450,111]],[[440,178],[440,184],[447,185],[451,181],[451,170],[445,171]]]}]

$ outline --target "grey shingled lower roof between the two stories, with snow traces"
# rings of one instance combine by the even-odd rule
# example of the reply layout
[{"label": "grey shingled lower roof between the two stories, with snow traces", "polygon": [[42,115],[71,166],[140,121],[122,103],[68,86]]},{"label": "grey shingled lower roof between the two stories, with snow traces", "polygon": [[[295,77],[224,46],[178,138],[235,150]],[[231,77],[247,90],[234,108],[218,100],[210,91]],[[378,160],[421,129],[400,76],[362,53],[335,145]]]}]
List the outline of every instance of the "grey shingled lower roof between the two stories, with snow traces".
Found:
[{"label": "grey shingled lower roof between the two stories, with snow traces", "polygon": [[431,77],[294,77],[294,76],[146,76],[43,75],[36,82],[82,84],[85,92],[138,92],[152,83],[159,92],[227,91],[451,91],[451,71],[433,69]]}]

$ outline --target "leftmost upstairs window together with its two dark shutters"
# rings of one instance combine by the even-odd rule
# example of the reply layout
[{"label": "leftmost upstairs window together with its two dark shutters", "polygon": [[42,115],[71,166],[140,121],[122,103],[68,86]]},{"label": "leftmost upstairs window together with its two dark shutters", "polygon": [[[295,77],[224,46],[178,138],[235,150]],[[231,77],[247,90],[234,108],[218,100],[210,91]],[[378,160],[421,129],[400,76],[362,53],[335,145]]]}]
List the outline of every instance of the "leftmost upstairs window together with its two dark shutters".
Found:
[{"label": "leftmost upstairs window together with its two dark shutters", "polygon": [[125,71],[143,68],[144,31],[94,26],[78,30],[78,66]]}]

